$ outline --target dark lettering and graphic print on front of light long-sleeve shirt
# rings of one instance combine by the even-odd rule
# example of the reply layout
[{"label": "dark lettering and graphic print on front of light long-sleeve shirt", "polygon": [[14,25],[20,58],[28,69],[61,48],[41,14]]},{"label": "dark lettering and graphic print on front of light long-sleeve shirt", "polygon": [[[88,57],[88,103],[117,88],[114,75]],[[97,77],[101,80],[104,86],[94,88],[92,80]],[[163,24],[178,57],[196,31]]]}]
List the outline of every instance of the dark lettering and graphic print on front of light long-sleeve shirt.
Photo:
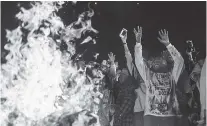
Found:
[{"label": "dark lettering and graphic print on front of light long-sleeve shirt", "polygon": [[148,112],[153,115],[171,115],[173,106],[173,87],[171,73],[150,72],[148,85]]}]

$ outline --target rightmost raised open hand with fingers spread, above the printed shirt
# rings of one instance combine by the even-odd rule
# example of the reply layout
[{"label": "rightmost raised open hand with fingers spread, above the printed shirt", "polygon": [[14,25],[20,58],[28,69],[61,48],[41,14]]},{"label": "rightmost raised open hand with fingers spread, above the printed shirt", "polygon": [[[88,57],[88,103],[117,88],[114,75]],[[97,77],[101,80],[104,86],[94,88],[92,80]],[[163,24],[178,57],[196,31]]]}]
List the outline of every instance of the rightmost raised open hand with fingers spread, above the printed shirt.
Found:
[{"label": "rightmost raised open hand with fingers spread, above the printed shirt", "polygon": [[166,31],[165,29],[159,31],[159,37],[157,39],[165,46],[170,44],[168,31]]}]

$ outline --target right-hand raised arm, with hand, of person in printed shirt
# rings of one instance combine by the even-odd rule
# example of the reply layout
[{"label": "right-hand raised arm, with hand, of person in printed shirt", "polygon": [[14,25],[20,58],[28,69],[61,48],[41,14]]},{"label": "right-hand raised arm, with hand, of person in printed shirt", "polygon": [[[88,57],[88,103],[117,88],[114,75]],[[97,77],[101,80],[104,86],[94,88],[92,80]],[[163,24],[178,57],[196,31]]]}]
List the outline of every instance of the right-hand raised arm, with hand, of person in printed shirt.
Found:
[{"label": "right-hand raised arm, with hand, of person in printed shirt", "polygon": [[178,50],[170,43],[168,37],[168,31],[166,31],[165,29],[159,31],[159,36],[160,38],[158,38],[158,40],[167,47],[170,55],[173,58],[174,66],[173,66],[172,74],[175,79],[175,82],[177,83],[178,78],[184,68],[184,59],[181,56],[181,54],[178,52]]}]

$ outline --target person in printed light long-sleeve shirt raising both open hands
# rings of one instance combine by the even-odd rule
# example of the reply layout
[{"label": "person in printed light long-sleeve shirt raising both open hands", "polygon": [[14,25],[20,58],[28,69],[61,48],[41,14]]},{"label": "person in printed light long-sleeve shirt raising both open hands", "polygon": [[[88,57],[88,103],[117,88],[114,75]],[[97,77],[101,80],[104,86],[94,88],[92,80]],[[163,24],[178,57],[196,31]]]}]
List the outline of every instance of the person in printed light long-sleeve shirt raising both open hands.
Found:
[{"label": "person in printed light long-sleeve shirt raising both open hands", "polygon": [[136,31],[135,65],[146,84],[145,126],[175,126],[179,113],[175,86],[183,70],[184,60],[177,49],[171,45],[168,32],[161,30],[158,40],[164,44],[173,59],[173,67],[168,60],[156,57],[148,63],[142,57],[142,28]]}]

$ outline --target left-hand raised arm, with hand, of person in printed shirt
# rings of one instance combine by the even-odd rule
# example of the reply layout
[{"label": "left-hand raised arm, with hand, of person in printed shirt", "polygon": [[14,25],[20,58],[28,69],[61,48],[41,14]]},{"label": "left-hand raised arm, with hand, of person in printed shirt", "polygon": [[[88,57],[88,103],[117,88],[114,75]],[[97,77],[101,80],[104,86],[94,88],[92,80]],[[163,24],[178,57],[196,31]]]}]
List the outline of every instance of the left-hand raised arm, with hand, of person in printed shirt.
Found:
[{"label": "left-hand raised arm, with hand, of person in printed shirt", "polygon": [[146,82],[146,70],[147,65],[145,64],[143,57],[142,57],[142,45],[141,45],[141,38],[142,38],[142,27],[138,26],[138,30],[134,29],[134,34],[136,37],[136,45],[134,48],[134,57],[135,57],[135,65],[139,71],[144,82]]}]

